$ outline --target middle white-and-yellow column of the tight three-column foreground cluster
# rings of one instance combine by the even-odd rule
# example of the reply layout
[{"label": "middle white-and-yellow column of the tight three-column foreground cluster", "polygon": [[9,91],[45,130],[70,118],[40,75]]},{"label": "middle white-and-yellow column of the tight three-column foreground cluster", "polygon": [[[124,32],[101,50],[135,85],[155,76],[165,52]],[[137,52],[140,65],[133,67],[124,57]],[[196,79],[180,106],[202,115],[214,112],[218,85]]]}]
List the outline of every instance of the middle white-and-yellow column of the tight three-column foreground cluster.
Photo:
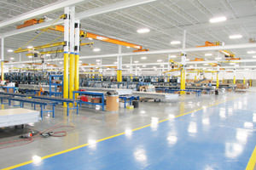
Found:
[{"label": "middle white-and-yellow column of the tight three-column foreground cluster", "polygon": [[75,8],[70,8],[70,55],[69,55],[69,99],[73,99],[74,89],[74,18]]}]

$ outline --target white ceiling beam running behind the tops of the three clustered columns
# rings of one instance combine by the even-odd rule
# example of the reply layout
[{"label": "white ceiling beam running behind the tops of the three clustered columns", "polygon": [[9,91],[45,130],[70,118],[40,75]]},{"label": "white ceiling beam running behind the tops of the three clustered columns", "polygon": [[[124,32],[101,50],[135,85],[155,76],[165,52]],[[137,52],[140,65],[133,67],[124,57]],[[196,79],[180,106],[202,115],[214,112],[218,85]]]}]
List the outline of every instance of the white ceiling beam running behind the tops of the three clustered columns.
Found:
[{"label": "white ceiling beam running behind the tops of the three clustered columns", "polygon": [[[141,4],[144,4],[144,3],[151,3],[151,2],[154,2],[154,1],[156,1],[156,0],[130,0],[130,1],[125,0],[125,1],[121,1],[119,3],[109,4],[109,5],[106,5],[106,6],[103,6],[103,7],[92,8],[92,9],[89,9],[85,12],[75,14],[75,15],[76,15],[77,20],[83,20],[85,18],[94,16],[96,14],[104,14],[104,13],[119,10],[119,9],[122,9],[122,8],[129,8],[129,7],[141,5]],[[54,22],[54,21],[44,22],[44,23],[41,23],[41,24],[38,24],[38,25],[28,26],[26,28],[21,28],[19,30],[5,32],[3,34],[0,34],[0,37],[15,36],[15,35],[20,34],[20,33],[39,30],[39,29],[42,29],[42,28],[45,28],[45,27],[48,27],[48,26],[55,26],[55,25],[59,25],[59,24],[62,24],[62,23],[63,23],[63,20],[59,20],[57,22]]]}]

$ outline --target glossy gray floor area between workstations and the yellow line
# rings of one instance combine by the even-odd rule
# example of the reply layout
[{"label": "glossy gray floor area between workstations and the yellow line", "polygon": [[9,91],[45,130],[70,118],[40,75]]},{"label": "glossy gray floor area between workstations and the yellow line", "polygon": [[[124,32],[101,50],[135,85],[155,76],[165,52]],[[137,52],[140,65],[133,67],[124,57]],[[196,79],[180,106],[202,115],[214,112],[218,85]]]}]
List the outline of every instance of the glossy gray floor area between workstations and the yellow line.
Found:
[{"label": "glossy gray floor area between workstations and the yellow line", "polygon": [[[45,114],[42,122],[32,126],[26,126],[24,130],[14,128],[0,129],[0,143],[19,139],[21,133],[30,129],[42,131],[55,125],[72,125],[74,129],[67,133],[66,137],[47,139],[38,138],[31,144],[11,147],[0,150],[0,168],[13,166],[24,161],[32,160],[32,156],[47,156],[61,150],[67,150],[79,144],[106,138],[117,133],[123,133],[137,127],[149,124],[152,119],[160,121],[177,116],[188,111],[194,111],[202,106],[214,104],[224,99],[240,97],[243,94],[221,94],[196,96],[182,96],[178,101],[169,103],[140,103],[138,109],[120,109],[119,112],[96,111],[92,108],[80,108],[79,115],[75,112],[66,116],[66,111],[61,106],[56,107],[55,118]],[[5,105],[5,109],[8,108]],[[30,105],[26,105],[30,108]],[[68,130],[61,129],[61,130]]]}]

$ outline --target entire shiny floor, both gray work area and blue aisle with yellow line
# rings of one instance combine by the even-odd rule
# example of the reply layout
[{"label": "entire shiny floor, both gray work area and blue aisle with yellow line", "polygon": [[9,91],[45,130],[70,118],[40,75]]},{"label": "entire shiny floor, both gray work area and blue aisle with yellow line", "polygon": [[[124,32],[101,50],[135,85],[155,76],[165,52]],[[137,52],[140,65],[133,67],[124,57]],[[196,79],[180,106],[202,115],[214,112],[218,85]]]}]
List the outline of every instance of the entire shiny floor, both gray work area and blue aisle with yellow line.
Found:
[{"label": "entire shiny floor, both gray work area and blue aisle with yellow line", "polygon": [[254,95],[182,96],[118,113],[80,108],[68,117],[57,108],[55,118],[46,114],[23,130],[0,129],[1,143],[30,129],[74,127],[59,129],[66,137],[1,149],[0,168],[245,169],[256,145]]}]

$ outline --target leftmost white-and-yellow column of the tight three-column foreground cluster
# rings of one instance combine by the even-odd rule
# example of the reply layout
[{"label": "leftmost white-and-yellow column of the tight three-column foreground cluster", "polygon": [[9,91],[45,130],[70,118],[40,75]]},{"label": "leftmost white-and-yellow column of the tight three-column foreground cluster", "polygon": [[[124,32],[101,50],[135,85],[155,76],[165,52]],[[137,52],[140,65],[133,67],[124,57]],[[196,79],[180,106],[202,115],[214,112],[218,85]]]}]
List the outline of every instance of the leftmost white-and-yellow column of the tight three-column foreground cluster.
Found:
[{"label": "leftmost white-and-yellow column of the tight three-column foreground cluster", "polygon": [[[68,99],[68,55],[69,55],[69,8],[64,9],[64,70],[63,70],[63,98]],[[67,103],[64,103],[67,107]]]}]

